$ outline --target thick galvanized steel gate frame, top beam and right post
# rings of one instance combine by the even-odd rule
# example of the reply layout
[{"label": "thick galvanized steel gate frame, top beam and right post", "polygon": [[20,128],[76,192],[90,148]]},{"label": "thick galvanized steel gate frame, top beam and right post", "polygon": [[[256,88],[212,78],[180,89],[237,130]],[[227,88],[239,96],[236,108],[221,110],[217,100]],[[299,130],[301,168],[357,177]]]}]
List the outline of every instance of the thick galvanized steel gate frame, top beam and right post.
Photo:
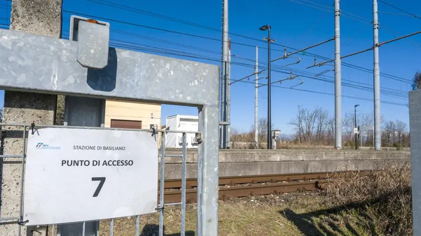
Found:
[{"label": "thick galvanized steel gate frame, top beam and right post", "polygon": [[219,66],[110,48],[109,66],[92,70],[77,61],[77,41],[6,29],[0,38],[0,89],[197,107],[196,234],[218,235]]}]

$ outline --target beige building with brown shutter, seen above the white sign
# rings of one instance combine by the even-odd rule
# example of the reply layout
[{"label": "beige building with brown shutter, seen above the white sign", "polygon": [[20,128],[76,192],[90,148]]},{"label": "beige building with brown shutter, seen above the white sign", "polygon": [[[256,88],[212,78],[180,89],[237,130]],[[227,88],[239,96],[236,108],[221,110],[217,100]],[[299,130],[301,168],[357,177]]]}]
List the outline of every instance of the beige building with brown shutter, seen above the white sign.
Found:
[{"label": "beige building with brown shutter, seen above the white sign", "polygon": [[107,100],[105,127],[146,128],[161,127],[161,105],[131,101]]}]

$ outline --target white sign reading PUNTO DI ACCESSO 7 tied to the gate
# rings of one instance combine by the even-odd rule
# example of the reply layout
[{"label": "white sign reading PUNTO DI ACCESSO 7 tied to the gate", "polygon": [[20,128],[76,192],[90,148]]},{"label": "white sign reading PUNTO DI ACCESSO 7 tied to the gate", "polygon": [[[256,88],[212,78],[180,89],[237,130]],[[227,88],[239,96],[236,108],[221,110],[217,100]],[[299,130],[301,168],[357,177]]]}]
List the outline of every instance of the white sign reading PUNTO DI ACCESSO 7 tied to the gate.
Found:
[{"label": "white sign reading PUNTO DI ACCESSO 7 tied to the gate", "polygon": [[29,132],[26,225],[156,212],[158,144],[146,131],[38,128]]}]

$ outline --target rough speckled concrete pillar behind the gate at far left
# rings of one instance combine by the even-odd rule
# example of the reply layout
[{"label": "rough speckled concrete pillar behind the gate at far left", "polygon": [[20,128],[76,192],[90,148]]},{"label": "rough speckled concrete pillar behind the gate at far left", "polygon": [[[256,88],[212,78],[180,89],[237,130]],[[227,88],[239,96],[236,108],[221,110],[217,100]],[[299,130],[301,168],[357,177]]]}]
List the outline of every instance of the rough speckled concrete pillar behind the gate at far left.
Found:
[{"label": "rough speckled concrete pillar behind the gate at far left", "polygon": [[[62,0],[12,0],[10,29],[60,37]],[[4,122],[54,124],[57,96],[5,91]],[[22,128],[6,126],[2,130],[2,154],[22,153]],[[17,158],[1,161],[2,177],[0,217],[19,216],[21,163]],[[16,236],[18,224],[0,225],[0,235]],[[22,227],[21,235],[46,235],[45,228]]]}]

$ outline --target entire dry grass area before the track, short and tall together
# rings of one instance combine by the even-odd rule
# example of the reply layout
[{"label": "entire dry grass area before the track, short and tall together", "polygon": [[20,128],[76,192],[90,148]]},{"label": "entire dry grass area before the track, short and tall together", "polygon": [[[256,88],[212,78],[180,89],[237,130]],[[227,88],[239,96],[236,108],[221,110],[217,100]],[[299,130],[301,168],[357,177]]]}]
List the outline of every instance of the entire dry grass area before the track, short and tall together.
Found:
[{"label": "entire dry grass area before the track, short and tall together", "polygon": [[[220,236],[411,235],[408,165],[367,174],[342,174],[323,192],[295,192],[219,201]],[[186,210],[186,235],[195,235],[196,205]],[[116,219],[114,235],[135,233],[135,218]],[[180,234],[180,208],[166,207],[166,236]],[[109,235],[102,221],[100,235]],[[158,214],[141,217],[140,235],[158,235]]]}]

